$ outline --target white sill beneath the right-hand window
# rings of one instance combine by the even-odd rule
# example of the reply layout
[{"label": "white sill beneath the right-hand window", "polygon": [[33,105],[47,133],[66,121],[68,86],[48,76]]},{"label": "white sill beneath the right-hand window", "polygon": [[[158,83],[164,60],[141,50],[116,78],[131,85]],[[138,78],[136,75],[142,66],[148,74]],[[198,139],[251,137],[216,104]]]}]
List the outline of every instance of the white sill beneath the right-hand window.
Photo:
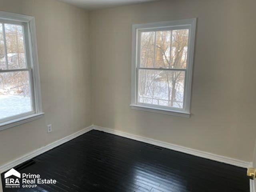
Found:
[{"label": "white sill beneath the right-hand window", "polygon": [[160,108],[154,108],[154,107],[148,107],[148,106],[141,106],[141,105],[130,105],[132,109],[135,110],[142,110],[142,111],[148,111],[148,112],[154,112],[154,113],[161,113],[166,115],[173,115],[173,116],[180,116],[180,117],[186,117],[190,118],[190,113],[186,112],[180,112],[180,111],[174,111],[174,110],[166,110],[166,109],[160,109]]}]

